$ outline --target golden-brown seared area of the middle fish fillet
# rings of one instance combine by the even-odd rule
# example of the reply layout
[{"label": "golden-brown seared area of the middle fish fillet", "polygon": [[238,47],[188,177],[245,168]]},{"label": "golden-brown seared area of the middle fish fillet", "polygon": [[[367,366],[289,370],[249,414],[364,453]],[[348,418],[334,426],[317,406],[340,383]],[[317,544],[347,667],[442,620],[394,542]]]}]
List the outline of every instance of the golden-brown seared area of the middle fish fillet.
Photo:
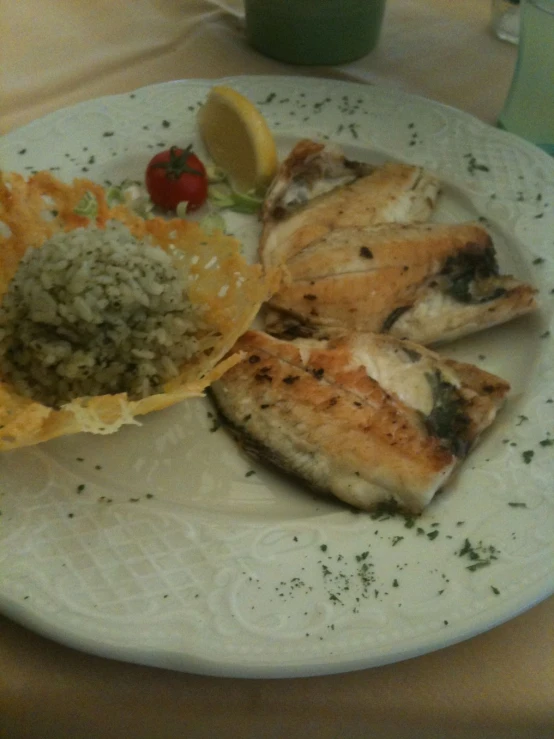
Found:
[{"label": "golden-brown seared area of the middle fish fillet", "polygon": [[333,231],[287,263],[290,280],[269,305],[323,327],[381,331],[467,243],[486,248],[490,237],[473,224]]}]

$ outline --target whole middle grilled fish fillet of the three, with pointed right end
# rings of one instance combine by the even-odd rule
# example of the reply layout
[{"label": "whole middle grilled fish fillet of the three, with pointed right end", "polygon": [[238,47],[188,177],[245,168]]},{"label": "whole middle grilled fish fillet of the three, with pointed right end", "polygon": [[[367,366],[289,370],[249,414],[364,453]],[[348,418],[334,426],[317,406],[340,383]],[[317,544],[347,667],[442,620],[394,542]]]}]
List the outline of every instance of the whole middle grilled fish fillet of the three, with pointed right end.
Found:
[{"label": "whole middle grilled fish fillet of the three, with pointed right end", "polygon": [[289,338],[377,331],[430,344],[536,308],[535,289],[499,275],[491,237],[473,223],[338,228],[286,269],[265,326]]}]

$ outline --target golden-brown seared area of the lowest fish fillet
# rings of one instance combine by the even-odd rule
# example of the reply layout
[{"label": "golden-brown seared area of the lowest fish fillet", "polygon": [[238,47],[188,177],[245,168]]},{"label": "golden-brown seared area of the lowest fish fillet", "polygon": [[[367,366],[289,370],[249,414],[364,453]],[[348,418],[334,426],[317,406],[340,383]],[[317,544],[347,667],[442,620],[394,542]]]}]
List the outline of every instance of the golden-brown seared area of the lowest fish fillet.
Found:
[{"label": "golden-brown seared area of the lowest fish fillet", "polygon": [[[415,511],[455,464],[415,412],[400,409],[367,376],[341,373],[340,352],[314,351],[304,364],[293,344],[254,332],[237,349],[244,360],[212,386],[220,411],[250,449],[314,487],[360,508],[394,497]],[[357,496],[353,475],[369,481],[375,497]]]}]

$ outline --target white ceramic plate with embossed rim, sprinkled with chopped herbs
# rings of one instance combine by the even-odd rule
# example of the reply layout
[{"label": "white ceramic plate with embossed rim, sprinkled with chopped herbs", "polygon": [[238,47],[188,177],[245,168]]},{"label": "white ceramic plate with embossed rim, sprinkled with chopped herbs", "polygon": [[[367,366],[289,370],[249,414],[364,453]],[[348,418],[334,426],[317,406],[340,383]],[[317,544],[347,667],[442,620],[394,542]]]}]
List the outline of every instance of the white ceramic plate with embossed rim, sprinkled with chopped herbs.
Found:
[{"label": "white ceramic plate with embossed rim, sprinkled with chopped herbs", "polygon": [[[553,591],[554,162],[458,111],[334,81],[241,77],[284,154],[301,137],[438,173],[436,218],[484,218],[541,311],[452,344],[513,386],[496,425],[410,527],[355,514],[253,464],[206,400],[116,436],[0,457],[0,604],[55,639],[193,672],[295,676],[393,662],[466,639]],[[198,144],[206,81],[61,110],[0,142],[6,169],[141,178]],[[198,146],[198,148],[201,148]],[[254,253],[257,224],[229,219]],[[84,486],[84,487],[83,487]],[[462,554],[466,542],[477,560]],[[466,546],[467,548],[467,546]]]}]

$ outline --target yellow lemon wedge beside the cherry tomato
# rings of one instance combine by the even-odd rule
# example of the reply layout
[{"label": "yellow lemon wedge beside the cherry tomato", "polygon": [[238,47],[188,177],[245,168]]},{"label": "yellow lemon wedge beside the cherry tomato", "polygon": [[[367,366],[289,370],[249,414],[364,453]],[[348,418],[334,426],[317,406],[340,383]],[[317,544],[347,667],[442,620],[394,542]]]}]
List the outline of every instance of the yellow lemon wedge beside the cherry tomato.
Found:
[{"label": "yellow lemon wedge beside the cherry tomato", "polygon": [[277,149],[256,106],[236,90],[212,87],[198,113],[209,155],[239,192],[267,187],[277,170]]}]

